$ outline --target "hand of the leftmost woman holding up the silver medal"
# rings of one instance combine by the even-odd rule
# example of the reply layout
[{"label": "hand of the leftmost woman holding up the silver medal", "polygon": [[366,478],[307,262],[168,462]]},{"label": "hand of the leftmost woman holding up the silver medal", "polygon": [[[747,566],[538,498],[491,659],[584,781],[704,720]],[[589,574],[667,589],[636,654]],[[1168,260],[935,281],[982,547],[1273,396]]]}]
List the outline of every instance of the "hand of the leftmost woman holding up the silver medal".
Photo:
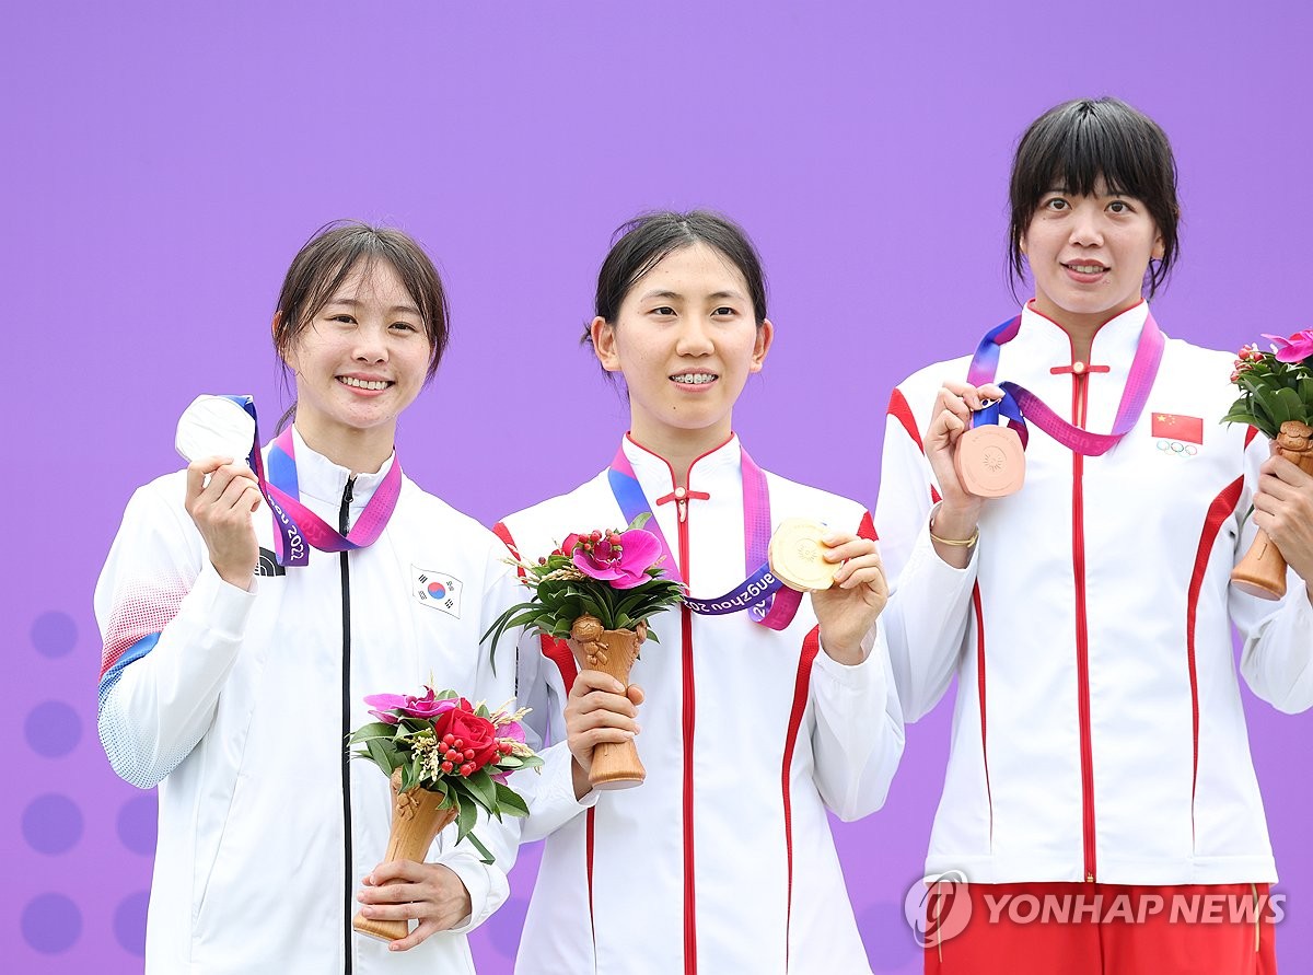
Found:
[{"label": "hand of the leftmost woman holding up the silver medal", "polygon": [[[209,477],[209,482],[206,482]],[[249,590],[260,561],[251,515],[260,507],[255,473],[231,457],[202,457],[186,468],[186,512],[225,582]]]}]

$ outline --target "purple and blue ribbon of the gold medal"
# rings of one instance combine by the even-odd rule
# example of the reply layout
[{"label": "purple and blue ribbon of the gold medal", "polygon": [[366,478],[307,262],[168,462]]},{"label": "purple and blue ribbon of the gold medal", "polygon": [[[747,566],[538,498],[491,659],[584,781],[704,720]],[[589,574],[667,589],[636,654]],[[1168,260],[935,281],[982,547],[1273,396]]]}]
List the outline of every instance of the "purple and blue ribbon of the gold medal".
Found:
[{"label": "purple and blue ribbon of the gold medal", "polygon": [[[730,612],[748,610],[748,616],[769,629],[784,629],[793,622],[793,616],[802,603],[802,593],[786,587],[771,572],[767,551],[771,544],[771,493],[762,473],[747,451],[739,447],[743,472],[743,561],[747,578],[722,597],[714,599],[697,599],[692,595],[684,597],[684,606],[693,612],[705,616],[723,616]],[[621,445],[616,451],[616,459],[611,461],[607,472],[611,481],[611,493],[616,495],[616,503],[624,512],[625,523],[642,514],[653,515],[651,505],[643,494],[642,485],[634,474],[634,468]],[[656,523],[655,515],[643,526],[660,543],[664,556],[664,572],[671,578],[683,582],[679,572],[679,562],[671,555],[670,544]]]}]

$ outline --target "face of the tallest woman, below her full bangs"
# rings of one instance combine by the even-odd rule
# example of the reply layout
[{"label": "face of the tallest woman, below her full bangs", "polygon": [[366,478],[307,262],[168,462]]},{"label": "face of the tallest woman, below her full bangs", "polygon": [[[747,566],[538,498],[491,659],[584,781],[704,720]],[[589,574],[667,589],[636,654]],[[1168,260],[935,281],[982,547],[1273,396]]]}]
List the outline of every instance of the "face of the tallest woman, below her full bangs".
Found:
[{"label": "face of the tallest woman, below her full bangs", "polygon": [[1020,240],[1035,279],[1035,309],[1073,332],[1090,332],[1138,304],[1163,242],[1142,201],[1109,192],[1052,189]]}]

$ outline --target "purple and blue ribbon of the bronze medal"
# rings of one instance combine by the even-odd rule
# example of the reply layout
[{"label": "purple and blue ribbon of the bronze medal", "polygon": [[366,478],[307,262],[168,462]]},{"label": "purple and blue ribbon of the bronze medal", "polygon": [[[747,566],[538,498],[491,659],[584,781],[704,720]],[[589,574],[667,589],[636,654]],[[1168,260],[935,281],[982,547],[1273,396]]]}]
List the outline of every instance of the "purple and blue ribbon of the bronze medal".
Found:
[{"label": "purple and blue ribbon of the bronze medal", "polygon": [[[966,371],[969,384],[979,386],[994,381],[998,372],[999,347],[1015,339],[1020,329],[1022,317],[1016,315],[981,339],[976,355],[972,356],[970,368]],[[1154,322],[1150,311],[1145,315],[1145,325],[1140,331],[1140,340],[1136,343],[1136,356],[1130,361],[1127,386],[1121,392],[1121,403],[1117,406],[1117,417],[1109,434],[1094,434],[1067,423],[1053,413],[1040,397],[1016,382],[1001,382],[1003,399],[987,409],[1001,409],[1004,417],[1016,420],[1012,426],[1020,434],[1023,447],[1027,442],[1025,420],[1029,420],[1064,447],[1087,457],[1099,457],[1116,447],[1121,438],[1129,434],[1140,420],[1145,403],[1149,402],[1149,390],[1153,389],[1154,378],[1158,376],[1162,350],[1166,344],[1167,340],[1158,330],[1158,323]],[[993,420],[972,418],[972,426],[977,426],[978,422],[997,423],[998,413],[993,414]]]}]

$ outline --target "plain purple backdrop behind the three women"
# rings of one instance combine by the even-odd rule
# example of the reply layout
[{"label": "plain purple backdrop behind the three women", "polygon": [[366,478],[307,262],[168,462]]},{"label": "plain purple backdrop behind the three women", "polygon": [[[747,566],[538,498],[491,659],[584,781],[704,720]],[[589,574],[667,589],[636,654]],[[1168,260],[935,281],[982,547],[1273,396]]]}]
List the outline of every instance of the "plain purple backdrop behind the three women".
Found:
[{"label": "plain purple backdrop behind the three women", "polygon": [[[140,968],[154,798],[96,738],[91,591],[130,491],[177,466],[193,396],[251,392],[277,415],[268,321],[316,226],[385,221],[437,255],[454,342],[403,455],[491,523],[591,474],[625,427],[575,346],[611,230],[646,208],[723,209],[764,254],[777,326],[735,426],[764,466],[873,505],[890,388],[1014,307],[1010,151],[1060,100],[1116,93],[1173,137],[1169,334],[1236,348],[1313,323],[1310,14],[1271,7],[11,5],[5,970]],[[1295,744],[1313,716],[1247,708],[1293,971],[1313,951]],[[919,971],[901,904],[947,725],[941,706],[911,727],[886,808],[838,828],[877,972]],[[525,850],[512,901],[474,936],[482,972],[509,971],[536,862]]]}]

